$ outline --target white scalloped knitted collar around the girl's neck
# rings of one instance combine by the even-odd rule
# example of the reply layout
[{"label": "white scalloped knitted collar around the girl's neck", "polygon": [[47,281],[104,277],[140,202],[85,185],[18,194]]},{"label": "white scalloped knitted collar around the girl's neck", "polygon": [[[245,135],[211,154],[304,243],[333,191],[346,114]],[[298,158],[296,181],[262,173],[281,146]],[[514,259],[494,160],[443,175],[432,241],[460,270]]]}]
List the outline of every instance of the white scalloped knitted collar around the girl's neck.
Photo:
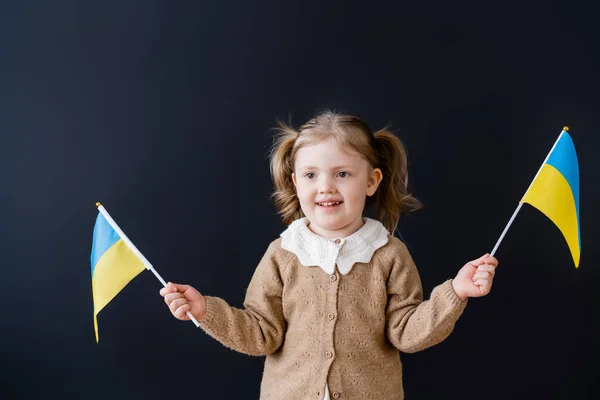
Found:
[{"label": "white scalloped knitted collar around the girl's neck", "polygon": [[346,238],[330,239],[308,229],[306,217],[295,220],[281,234],[281,247],[294,253],[305,267],[321,267],[328,274],[345,275],[357,263],[368,263],[375,250],[388,242],[389,232],[381,222],[363,218],[365,224]]}]

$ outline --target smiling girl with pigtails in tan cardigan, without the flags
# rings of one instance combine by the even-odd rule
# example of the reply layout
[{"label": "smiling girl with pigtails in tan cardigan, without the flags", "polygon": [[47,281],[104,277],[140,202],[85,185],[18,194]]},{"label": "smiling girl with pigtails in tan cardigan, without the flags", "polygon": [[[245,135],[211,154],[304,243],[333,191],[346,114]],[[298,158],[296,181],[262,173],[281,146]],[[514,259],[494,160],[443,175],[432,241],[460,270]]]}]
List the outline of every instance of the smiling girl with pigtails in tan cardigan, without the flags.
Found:
[{"label": "smiling girl with pigtails in tan cardigan, without the flags", "polygon": [[[468,262],[423,301],[393,235],[420,204],[407,190],[403,145],[388,131],[323,112],[297,131],[280,124],[270,161],[288,228],[260,261],[244,309],[188,285],[160,294],[176,318],[190,311],[225,346],[267,356],[262,400],[403,399],[399,351],[444,340],[467,298],[489,293],[498,261]],[[363,216],[371,202],[376,220]]]}]

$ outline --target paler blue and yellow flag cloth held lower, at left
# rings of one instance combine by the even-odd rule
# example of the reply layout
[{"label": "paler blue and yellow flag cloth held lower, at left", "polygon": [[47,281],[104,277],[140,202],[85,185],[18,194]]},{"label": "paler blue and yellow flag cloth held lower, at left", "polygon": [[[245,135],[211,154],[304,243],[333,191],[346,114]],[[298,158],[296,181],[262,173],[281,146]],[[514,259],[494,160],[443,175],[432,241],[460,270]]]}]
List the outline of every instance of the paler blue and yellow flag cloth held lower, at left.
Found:
[{"label": "paler blue and yellow flag cloth held lower, at left", "polygon": [[101,212],[94,226],[91,263],[97,342],[98,313],[145,267]]}]

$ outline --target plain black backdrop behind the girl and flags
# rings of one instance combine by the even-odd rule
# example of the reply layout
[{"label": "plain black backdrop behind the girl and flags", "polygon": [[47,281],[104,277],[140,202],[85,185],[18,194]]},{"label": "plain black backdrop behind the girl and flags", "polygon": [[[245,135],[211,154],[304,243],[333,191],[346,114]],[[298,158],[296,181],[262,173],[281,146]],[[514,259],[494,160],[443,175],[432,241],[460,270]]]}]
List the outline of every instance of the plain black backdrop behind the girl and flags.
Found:
[{"label": "plain black backdrop behind the girl and flags", "polygon": [[[593,4],[593,3],[591,3]],[[101,201],[166,279],[241,306],[285,228],[276,119],[391,124],[425,207],[399,234],[425,293],[491,251],[563,125],[582,258],[525,205],[489,296],[402,355],[407,399],[598,398],[600,51],[574,2],[0,5],[0,397],[255,399],[263,359],[174,319],[150,272],[92,319]]]}]

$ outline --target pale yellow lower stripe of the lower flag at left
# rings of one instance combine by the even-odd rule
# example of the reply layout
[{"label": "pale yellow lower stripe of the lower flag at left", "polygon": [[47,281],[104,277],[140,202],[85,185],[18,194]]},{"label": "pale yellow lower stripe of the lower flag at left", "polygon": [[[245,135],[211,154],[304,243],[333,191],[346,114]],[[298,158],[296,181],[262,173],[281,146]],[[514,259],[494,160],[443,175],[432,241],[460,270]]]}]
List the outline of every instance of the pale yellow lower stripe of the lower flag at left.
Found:
[{"label": "pale yellow lower stripe of the lower flag at left", "polygon": [[92,277],[96,341],[98,341],[98,313],[144,269],[144,263],[127,247],[123,239],[115,242],[102,254]]}]

